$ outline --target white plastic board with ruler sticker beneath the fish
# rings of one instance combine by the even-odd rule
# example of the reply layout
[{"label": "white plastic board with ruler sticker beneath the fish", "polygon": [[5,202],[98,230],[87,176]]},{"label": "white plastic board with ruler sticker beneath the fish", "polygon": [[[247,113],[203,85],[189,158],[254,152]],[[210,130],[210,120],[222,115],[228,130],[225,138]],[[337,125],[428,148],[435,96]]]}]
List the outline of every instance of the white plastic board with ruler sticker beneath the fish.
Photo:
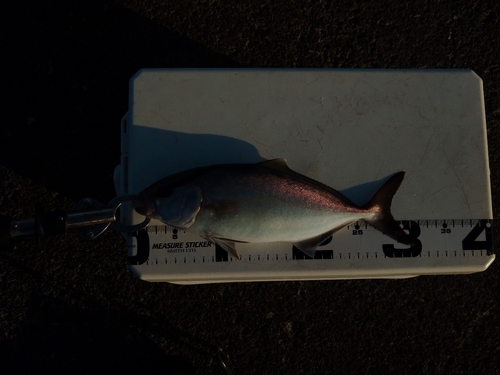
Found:
[{"label": "white plastic board with ruler sticker beneath the fish", "polygon": [[495,258],[482,81],[470,70],[145,69],[131,79],[119,195],[191,168],[274,158],[357,204],[406,171],[392,213],[416,245],[359,222],[315,259],[283,242],[238,244],[238,260],[152,221],[125,236],[132,272],[179,284],[404,278],[483,271]]}]

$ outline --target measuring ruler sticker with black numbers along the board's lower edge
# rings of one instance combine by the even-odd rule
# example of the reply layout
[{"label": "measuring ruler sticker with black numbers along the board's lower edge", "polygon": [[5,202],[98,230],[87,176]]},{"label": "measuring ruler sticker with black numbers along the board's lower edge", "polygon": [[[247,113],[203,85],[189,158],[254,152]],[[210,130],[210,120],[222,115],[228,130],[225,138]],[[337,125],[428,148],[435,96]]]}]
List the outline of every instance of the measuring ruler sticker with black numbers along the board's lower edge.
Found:
[{"label": "measuring ruler sticker with black numbers along the board's lower edge", "polygon": [[[404,262],[409,268],[427,265],[429,273],[436,272],[434,265],[438,262],[442,263],[443,273],[447,268],[451,273],[456,272],[457,260],[460,263],[474,258],[474,264],[487,267],[494,259],[492,220],[403,220],[399,223],[413,235],[415,245],[397,244],[360,221],[326,239],[314,259],[283,242],[238,244],[239,260],[211,241],[165,225],[152,225],[133,234],[142,240],[130,244],[135,255],[129,257],[129,263],[136,270],[147,269],[152,274],[158,271],[162,281],[189,283],[186,275],[196,274],[199,278],[204,273],[204,282],[236,281],[225,280],[226,273],[231,277],[234,272],[227,269],[227,264],[235,264],[237,269],[246,270],[257,280],[281,280],[279,270],[284,271],[283,277],[293,280],[301,278],[304,267],[308,267],[308,279],[315,278],[312,272],[315,269],[322,271],[318,278],[334,279],[343,278],[340,271],[346,266],[361,275],[363,269],[371,269],[367,261],[376,262],[381,273],[387,272],[385,263],[390,262],[389,268],[393,268],[395,261]],[[269,274],[270,271],[274,273]],[[409,276],[413,275],[406,277]]]}]

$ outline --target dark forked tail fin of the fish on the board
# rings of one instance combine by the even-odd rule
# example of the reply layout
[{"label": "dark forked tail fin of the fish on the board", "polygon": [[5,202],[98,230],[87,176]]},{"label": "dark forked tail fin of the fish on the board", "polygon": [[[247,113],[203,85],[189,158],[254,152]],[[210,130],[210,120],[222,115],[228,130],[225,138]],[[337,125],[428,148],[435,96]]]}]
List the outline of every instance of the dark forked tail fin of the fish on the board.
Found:
[{"label": "dark forked tail fin of the fish on the board", "polygon": [[392,198],[403,182],[405,172],[398,172],[387,180],[375,193],[363,209],[375,213],[371,219],[365,219],[370,225],[385,235],[405,245],[413,245],[414,240],[399,226],[391,214]]}]

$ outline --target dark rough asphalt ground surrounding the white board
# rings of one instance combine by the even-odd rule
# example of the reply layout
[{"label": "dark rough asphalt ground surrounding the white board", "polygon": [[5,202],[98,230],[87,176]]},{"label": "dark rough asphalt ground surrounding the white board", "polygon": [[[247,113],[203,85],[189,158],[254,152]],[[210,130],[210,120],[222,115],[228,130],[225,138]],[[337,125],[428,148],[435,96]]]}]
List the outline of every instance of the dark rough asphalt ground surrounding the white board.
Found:
[{"label": "dark rough asphalt ground surrounding the white board", "polygon": [[[1,14],[0,214],[107,202],[145,67],[470,68],[499,204],[500,3],[17,1]],[[498,248],[499,231],[495,230]],[[67,234],[0,253],[3,374],[499,373],[499,262],[408,280],[152,284],[126,245]]]}]

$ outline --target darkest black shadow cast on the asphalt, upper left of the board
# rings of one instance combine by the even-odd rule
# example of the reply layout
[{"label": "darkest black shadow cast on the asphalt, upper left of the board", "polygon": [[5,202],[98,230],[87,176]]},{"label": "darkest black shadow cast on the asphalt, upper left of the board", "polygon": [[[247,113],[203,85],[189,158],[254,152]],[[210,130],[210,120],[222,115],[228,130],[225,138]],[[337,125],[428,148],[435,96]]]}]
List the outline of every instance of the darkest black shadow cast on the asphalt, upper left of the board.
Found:
[{"label": "darkest black shadow cast on the asphalt, upper left of the board", "polygon": [[238,66],[111,1],[12,8],[0,163],[74,200],[114,194],[120,120],[139,69]]}]

